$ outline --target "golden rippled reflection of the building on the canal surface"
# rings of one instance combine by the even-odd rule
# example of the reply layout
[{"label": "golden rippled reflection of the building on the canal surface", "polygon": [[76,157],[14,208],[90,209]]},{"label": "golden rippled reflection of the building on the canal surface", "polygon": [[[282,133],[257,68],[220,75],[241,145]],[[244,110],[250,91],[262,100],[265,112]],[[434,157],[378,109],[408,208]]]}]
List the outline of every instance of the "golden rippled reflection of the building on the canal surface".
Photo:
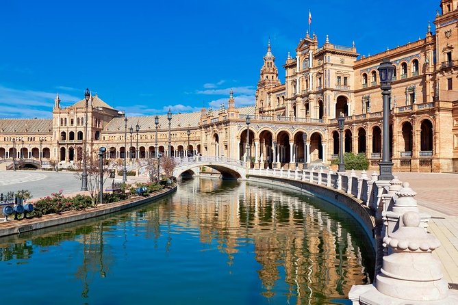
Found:
[{"label": "golden rippled reflection of the building on the canal surface", "polygon": [[110,280],[123,255],[136,255],[132,247],[139,248],[140,238],[150,252],[167,256],[177,251],[177,235],[194,234],[198,243],[216,245],[224,254],[229,274],[243,268],[242,256],[249,255],[257,262],[259,293],[281,293],[296,304],[345,297],[353,284],[369,282],[373,269],[364,233],[343,211],[313,197],[238,181],[194,178],[159,202],[58,228],[0,239],[0,261],[24,264],[38,247],[77,241],[82,258],[74,275],[83,299],[95,278]]}]

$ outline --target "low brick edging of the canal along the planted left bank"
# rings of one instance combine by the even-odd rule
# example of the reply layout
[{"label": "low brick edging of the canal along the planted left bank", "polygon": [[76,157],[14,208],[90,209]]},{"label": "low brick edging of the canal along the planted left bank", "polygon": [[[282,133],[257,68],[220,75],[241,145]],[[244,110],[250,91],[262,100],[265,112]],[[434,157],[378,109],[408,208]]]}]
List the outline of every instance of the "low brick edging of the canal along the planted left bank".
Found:
[{"label": "low brick edging of the canal along the planted left bank", "polygon": [[66,211],[60,214],[48,214],[42,217],[34,217],[25,220],[10,220],[8,222],[0,223],[0,237],[21,234],[31,230],[39,230],[42,228],[49,228],[51,226],[58,226],[60,224],[68,224],[71,222],[78,222],[80,220],[87,220],[92,217],[107,215],[123,211],[131,207],[137,207],[146,204],[153,200],[162,198],[172,194],[177,190],[177,185],[171,189],[162,189],[154,196],[147,198],[131,198],[119,202],[99,204],[97,207],[86,209],[83,211]]}]

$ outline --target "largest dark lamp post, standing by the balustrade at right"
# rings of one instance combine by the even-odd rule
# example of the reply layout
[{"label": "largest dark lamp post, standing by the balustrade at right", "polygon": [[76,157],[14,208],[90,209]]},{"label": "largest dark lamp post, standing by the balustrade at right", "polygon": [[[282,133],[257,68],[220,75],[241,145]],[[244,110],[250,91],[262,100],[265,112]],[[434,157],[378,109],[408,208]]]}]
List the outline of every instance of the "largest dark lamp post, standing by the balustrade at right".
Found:
[{"label": "largest dark lamp post, standing by the balustrade at right", "polygon": [[390,160],[390,126],[388,120],[390,120],[390,91],[391,82],[393,80],[395,67],[390,62],[390,59],[383,59],[379,66],[379,75],[381,90],[383,96],[383,146],[382,146],[382,161],[379,162],[380,176],[379,180],[391,181],[393,176],[393,163]]}]

